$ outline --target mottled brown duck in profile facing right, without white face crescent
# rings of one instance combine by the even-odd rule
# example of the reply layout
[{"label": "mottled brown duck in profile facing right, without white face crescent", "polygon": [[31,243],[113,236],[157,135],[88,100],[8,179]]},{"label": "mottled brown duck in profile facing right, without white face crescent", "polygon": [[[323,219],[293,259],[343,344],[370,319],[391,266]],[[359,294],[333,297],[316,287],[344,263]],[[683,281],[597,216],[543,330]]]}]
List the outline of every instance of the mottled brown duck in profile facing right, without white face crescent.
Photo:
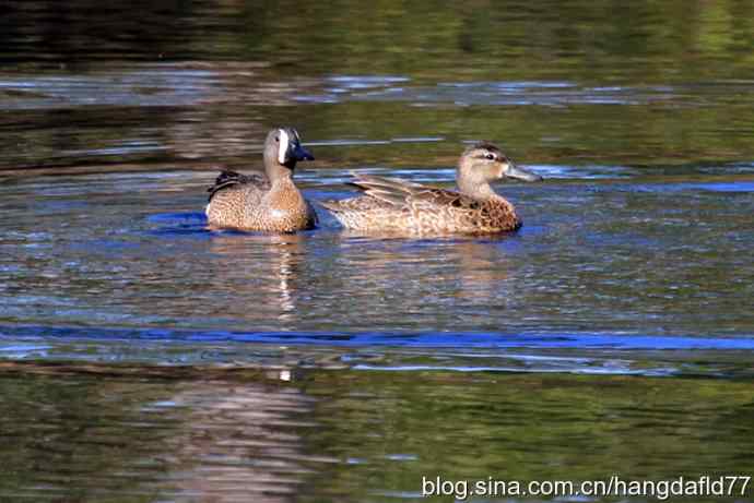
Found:
[{"label": "mottled brown duck in profile facing right, without white face crescent", "polygon": [[467,148],[458,163],[459,192],[435,189],[396,178],[354,173],[351,184],[364,195],[327,201],[346,228],[398,233],[492,233],[516,230],[521,219],[514,205],[490,182],[504,177],[539,181],[542,177],[517,167],[488,142]]}]

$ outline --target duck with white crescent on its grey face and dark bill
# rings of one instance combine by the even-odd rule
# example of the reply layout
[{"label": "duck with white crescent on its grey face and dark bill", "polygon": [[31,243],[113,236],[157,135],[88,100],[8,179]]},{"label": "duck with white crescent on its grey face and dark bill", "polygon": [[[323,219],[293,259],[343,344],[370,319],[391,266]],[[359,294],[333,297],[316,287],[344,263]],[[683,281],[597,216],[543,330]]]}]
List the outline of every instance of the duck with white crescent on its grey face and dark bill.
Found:
[{"label": "duck with white crescent on its grey face and dark bill", "polygon": [[293,183],[299,160],[314,160],[293,128],[273,129],[264,141],[262,175],[225,170],[208,189],[209,225],[215,228],[293,232],[311,229],[317,214]]}]

